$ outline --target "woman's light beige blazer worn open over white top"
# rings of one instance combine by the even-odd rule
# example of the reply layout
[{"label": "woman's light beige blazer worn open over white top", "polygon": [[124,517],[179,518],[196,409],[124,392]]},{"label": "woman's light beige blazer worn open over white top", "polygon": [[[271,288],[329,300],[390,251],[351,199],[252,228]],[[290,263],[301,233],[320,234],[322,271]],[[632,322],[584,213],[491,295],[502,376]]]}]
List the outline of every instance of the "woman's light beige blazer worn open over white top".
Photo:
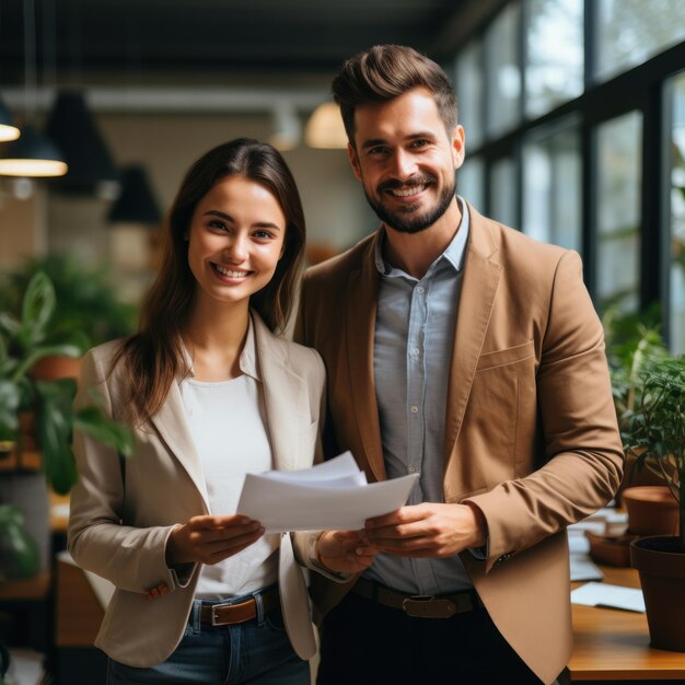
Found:
[{"label": "woman's light beige blazer worn open over white top", "polygon": [[[274,336],[253,313],[257,363],[264,384],[275,467],[311,466],[318,434],[324,367],[313,350]],[[121,365],[109,375],[119,342],[84,358],[78,404],[95,387],[106,411],[121,417]],[[227,411],[230,407],[227,407]],[[174,383],[152,426],[136,429],[136,453],[125,461],[77,433],[79,483],[71,492],[69,550],[77,564],[111,580],[116,590],[95,645],[117,661],[151,666],[164,661],[183,637],[200,565],[179,577],[166,567],[166,538],[176,523],[208,513],[199,457]],[[148,589],[165,582],[170,593],[149,601]],[[281,606],[288,636],[302,659],[315,652],[305,579],[291,536],[282,534],[279,556]]]}]

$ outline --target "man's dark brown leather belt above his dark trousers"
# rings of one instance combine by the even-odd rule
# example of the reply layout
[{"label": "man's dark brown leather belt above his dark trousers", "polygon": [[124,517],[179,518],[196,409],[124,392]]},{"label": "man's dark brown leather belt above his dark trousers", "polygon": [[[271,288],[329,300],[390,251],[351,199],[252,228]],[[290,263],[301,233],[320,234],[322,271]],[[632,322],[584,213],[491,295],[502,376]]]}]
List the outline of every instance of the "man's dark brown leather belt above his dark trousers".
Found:
[{"label": "man's dark brown leather belt above his dark trousers", "polygon": [[450,618],[454,614],[463,614],[483,606],[475,590],[439,595],[408,594],[391,590],[365,578],[360,578],[350,592],[417,618]]}]

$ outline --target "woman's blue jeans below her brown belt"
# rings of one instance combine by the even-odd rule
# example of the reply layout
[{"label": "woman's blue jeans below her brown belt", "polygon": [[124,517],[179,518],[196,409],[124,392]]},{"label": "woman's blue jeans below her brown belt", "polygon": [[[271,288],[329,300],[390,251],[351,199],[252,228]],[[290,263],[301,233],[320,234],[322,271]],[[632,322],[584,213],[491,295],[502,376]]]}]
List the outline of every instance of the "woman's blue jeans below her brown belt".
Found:
[{"label": "woman's blue jeans below her brown belt", "polygon": [[183,639],[166,661],[137,669],[109,659],[107,684],[310,685],[309,661],[292,649],[280,607],[260,618],[213,627],[200,624],[201,605],[201,600],[193,603]]}]

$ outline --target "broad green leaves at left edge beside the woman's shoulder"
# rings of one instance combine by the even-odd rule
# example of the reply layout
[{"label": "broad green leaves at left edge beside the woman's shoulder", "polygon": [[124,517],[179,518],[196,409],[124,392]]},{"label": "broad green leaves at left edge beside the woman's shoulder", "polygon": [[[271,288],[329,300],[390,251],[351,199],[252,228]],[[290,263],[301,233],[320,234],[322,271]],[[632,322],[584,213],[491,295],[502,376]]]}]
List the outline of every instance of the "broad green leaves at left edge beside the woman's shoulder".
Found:
[{"label": "broad green leaves at left edge beside the woman's shoulder", "polygon": [[73,428],[128,456],[133,442],[130,431],[105,416],[93,403],[74,411],[74,379],[40,381],[31,371],[45,357],[78,357],[82,350],[72,344],[50,339],[50,322],[56,310],[55,289],[42,271],[27,283],[19,317],[0,312],[0,441],[7,454],[14,445],[21,454],[23,434],[20,417],[33,414],[43,469],[50,487],[68,492],[77,480],[71,449]]}]

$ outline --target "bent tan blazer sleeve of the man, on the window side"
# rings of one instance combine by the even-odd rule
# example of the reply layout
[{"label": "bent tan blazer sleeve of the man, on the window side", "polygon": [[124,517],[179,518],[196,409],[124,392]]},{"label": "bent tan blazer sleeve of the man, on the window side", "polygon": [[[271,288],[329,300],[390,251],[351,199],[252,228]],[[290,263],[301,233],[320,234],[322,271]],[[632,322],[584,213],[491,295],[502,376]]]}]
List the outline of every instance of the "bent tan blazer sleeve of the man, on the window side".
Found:
[{"label": "bent tan blazer sleeve of the man, on the window side", "polygon": [[486,571],[605,506],[620,483],[624,453],[603,329],[573,252],[555,271],[536,400],[542,467],[464,500],[487,520]]}]

